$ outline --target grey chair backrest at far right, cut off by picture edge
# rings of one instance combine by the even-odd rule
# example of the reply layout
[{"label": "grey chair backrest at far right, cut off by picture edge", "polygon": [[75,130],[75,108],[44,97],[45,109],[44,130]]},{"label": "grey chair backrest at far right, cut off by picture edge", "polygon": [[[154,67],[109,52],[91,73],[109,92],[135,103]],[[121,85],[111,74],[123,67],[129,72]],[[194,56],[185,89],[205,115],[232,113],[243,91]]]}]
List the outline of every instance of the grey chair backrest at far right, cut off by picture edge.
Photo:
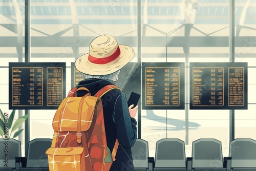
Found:
[{"label": "grey chair backrest at far right, cut off by picture edge", "polygon": [[256,141],[235,139],[229,144],[231,167],[256,167]]}]

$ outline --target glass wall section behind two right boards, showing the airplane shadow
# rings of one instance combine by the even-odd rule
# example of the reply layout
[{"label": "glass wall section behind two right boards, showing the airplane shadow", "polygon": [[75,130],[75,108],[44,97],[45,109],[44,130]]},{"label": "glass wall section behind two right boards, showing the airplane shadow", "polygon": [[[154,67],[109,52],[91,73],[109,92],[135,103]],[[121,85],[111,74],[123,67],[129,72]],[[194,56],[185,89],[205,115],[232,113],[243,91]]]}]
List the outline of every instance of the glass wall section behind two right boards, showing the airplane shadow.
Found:
[{"label": "glass wall section behind two right boards, showing the airplane shadow", "polygon": [[142,112],[151,155],[161,138],[183,140],[187,157],[199,138],[216,138],[227,152],[229,111],[189,110],[188,90],[189,62],[229,62],[229,2],[145,0],[142,18],[142,61],[185,62],[185,110]]}]

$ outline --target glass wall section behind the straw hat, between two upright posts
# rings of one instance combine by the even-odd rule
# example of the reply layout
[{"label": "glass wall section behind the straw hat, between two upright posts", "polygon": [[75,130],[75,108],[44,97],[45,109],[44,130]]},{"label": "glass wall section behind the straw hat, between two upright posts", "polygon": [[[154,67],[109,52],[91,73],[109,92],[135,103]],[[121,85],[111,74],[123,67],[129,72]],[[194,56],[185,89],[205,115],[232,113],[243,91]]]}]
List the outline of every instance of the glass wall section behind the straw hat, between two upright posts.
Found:
[{"label": "glass wall section behind the straw hat, between two upright posts", "polygon": [[[89,53],[90,42],[102,34],[135,50],[137,62],[136,1],[33,1],[31,2],[32,62],[66,62],[66,90],[71,89],[71,62]],[[52,138],[55,110],[30,111],[30,139]],[[44,127],[44,130],[40,129]]]}]

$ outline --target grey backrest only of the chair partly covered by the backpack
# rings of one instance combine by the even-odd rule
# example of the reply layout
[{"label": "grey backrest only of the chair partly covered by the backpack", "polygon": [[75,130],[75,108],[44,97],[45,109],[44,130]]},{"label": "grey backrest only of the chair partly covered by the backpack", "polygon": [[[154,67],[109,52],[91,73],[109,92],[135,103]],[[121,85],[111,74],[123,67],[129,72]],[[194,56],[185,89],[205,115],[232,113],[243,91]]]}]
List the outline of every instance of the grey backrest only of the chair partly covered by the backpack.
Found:
[{"label": "grey backrest only of the chair partly covered by the backpack", "polygon": [[34,139],[29,142],[27,167],[49,167],[46,151],[51,147],[52,139]]}]

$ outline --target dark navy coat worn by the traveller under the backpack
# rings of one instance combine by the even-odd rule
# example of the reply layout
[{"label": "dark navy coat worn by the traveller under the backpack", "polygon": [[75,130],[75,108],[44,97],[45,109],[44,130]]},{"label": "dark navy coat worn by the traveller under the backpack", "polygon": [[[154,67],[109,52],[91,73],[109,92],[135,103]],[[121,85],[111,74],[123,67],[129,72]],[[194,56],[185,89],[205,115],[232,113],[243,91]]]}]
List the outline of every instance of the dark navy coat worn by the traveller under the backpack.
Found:
[{"label": "dark navy coat worn by the traveller under the backpack", "polygon": [[[114,82],[92,78],[80,81],[76,88],[86,87],[94,96],[101,88],[110,84],[114,84]],[[83,95],[84,92],[77,92],[77,96]],[[131,147],[137,139],[137,122],[130,117],[125,94],[119,89],[113,89],[104,94],[101,100],[106,142],[111,152],[117,137],[119,141],[116,160],[113,162],[110,171],[134,170]]]}]

